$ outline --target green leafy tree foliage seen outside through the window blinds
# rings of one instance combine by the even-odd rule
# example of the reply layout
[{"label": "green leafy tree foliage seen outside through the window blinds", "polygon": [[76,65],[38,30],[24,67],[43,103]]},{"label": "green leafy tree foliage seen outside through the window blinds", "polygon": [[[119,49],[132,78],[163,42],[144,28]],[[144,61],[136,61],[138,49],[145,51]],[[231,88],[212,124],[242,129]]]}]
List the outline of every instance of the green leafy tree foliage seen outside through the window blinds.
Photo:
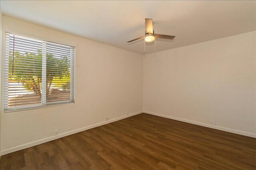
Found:
[{"label": "green leafy tree foliage seen outside through the window blinds", "polygon": [[[14,68],[14,69],[13,69]],[[37,53],[10,52],[9,82],[20,82],[22,86],[39,96],[42,87],[42,51]],[[46,96],[51,87],[70,90],[70,60],[66,56],[56,57],[46,54]]]}]

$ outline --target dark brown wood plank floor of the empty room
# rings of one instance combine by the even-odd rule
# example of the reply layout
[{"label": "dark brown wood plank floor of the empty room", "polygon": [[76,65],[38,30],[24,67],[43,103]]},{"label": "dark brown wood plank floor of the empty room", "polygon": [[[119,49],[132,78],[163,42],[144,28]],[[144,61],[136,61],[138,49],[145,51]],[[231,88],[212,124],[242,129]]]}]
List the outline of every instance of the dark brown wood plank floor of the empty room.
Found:
[{"label": "dark brown wood plank floor of the empty room", "polygon": [[142,113],[1,158],[1,170],[256,170],[256,139]]}]

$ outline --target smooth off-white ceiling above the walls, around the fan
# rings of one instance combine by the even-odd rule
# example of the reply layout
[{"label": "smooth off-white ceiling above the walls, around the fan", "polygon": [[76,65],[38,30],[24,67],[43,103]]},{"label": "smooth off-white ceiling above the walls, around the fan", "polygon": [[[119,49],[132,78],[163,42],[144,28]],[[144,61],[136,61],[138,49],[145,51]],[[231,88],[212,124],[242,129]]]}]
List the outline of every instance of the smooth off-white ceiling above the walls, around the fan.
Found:
[{"label": "smooth off-white ceiling above the walls, around the fan", "polygon": [[154,44],[126,43],[154,31],[175,35],[156,40],[156,51],[191,45],[256,29],[256,1],[5,1],[2,14],[140,54]]}]

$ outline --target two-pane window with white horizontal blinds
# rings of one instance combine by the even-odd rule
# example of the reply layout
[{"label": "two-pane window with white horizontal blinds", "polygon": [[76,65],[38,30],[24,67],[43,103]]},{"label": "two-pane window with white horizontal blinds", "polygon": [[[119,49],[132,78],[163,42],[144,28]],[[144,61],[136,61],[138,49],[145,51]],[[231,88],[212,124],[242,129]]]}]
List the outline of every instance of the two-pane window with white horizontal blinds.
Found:
[{"label": "two-pane window with white horizontal blinds", "polygon": [[74,102],[75,49],[6,33],[4,110]]}]

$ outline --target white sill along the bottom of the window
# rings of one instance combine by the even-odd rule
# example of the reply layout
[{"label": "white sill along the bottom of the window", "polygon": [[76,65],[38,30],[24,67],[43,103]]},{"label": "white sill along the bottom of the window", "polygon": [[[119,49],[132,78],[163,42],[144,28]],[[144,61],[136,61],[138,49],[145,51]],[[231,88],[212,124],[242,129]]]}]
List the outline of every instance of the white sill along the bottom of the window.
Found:
[{"label": "white sill along the bottom of the window", "polygon": [[6,109],[4,110],[4,113],[14,112],[14,111],[24,111],[24,110],[32,110],[32,109],[42,109],[47,107],[56,107],[56,106],[64,106],[69,104],[75,104],[75,102],[63,102],[59,104],[46,104],[44,106],[28,106],[28,107],[22,107],[22,108],[16,108],[16,109]]}]

